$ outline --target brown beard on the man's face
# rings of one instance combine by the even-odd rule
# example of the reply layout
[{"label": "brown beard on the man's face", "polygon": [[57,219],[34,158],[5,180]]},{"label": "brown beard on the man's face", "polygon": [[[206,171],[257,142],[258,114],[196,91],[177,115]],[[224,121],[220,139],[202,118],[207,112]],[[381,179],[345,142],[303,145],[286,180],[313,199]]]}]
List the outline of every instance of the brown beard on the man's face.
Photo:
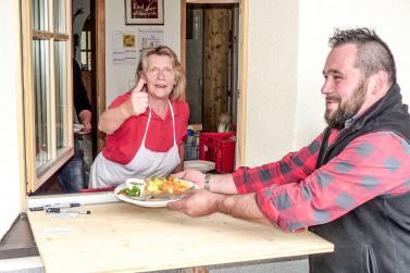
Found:
[{"label": "brown beard on the man's face", "polygon": [[332,99],[337,99],[339,102],[338,108],[335,112],[331,113],[326,110],[324,114],[324,119],[327,122],[327,125],[331,128],[344,128],[345,122],[351,117],[353,117],[363,106],[365,100],[365,90],[366,84],[362,80],[359,87],[356,88],[351,98],[349,98],[345,102],[340,102],[340,97],[333,97]]}]

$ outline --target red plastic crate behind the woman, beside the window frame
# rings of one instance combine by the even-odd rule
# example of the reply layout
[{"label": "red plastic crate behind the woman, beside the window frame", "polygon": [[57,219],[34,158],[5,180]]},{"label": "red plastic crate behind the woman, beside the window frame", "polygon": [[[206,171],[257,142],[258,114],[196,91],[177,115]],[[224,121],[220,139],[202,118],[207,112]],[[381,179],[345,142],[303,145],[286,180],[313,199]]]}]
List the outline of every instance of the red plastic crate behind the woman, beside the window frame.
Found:
[{"label": "red plastic crate behind the woman, beside the window frame", "polygon": [[200,133],[199,159],[215,162],[220,173],[235,170],[236,133]]}]

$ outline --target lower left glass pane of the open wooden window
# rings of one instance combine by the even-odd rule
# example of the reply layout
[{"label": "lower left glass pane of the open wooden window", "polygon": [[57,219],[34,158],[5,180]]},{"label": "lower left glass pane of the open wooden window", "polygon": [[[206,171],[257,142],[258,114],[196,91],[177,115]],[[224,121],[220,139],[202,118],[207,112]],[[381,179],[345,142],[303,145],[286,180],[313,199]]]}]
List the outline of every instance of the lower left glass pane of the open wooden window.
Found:
[{"label": "lower left glass pane of the open wooden window", "polygon": [[35,98],[35,135],[36,135],[36,169],[41,170],[51,158],[50,101],[49,101],[49,41],[33,41],[34,59],[34,98]]}]

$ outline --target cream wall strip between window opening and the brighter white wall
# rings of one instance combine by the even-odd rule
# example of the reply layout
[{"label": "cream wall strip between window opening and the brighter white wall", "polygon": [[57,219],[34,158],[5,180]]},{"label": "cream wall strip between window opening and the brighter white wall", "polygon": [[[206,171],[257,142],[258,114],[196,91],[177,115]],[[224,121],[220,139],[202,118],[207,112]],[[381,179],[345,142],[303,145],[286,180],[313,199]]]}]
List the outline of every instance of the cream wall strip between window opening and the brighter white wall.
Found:
[{"label": "cream wall strip between window opening and the brighter white wall", "polygon": [[299,1],[249,1],[245,165],[277,160],[291,148],[298,12]]}]

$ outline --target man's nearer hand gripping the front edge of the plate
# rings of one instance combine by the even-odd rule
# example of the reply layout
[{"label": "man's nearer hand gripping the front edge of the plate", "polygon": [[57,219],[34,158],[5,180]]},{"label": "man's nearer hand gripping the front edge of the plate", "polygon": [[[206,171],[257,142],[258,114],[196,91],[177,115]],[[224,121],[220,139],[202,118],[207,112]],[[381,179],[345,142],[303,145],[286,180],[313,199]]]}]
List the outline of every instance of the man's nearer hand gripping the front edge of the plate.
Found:
[{"label": "man's nearer hand gripping the front edge of the plate", "polygon": [[192,218],[204,216],[218,211],[218,202],[223,198],[204,189],[195,190],[183,199],[170,202],[166,207],[179,210]]}]

